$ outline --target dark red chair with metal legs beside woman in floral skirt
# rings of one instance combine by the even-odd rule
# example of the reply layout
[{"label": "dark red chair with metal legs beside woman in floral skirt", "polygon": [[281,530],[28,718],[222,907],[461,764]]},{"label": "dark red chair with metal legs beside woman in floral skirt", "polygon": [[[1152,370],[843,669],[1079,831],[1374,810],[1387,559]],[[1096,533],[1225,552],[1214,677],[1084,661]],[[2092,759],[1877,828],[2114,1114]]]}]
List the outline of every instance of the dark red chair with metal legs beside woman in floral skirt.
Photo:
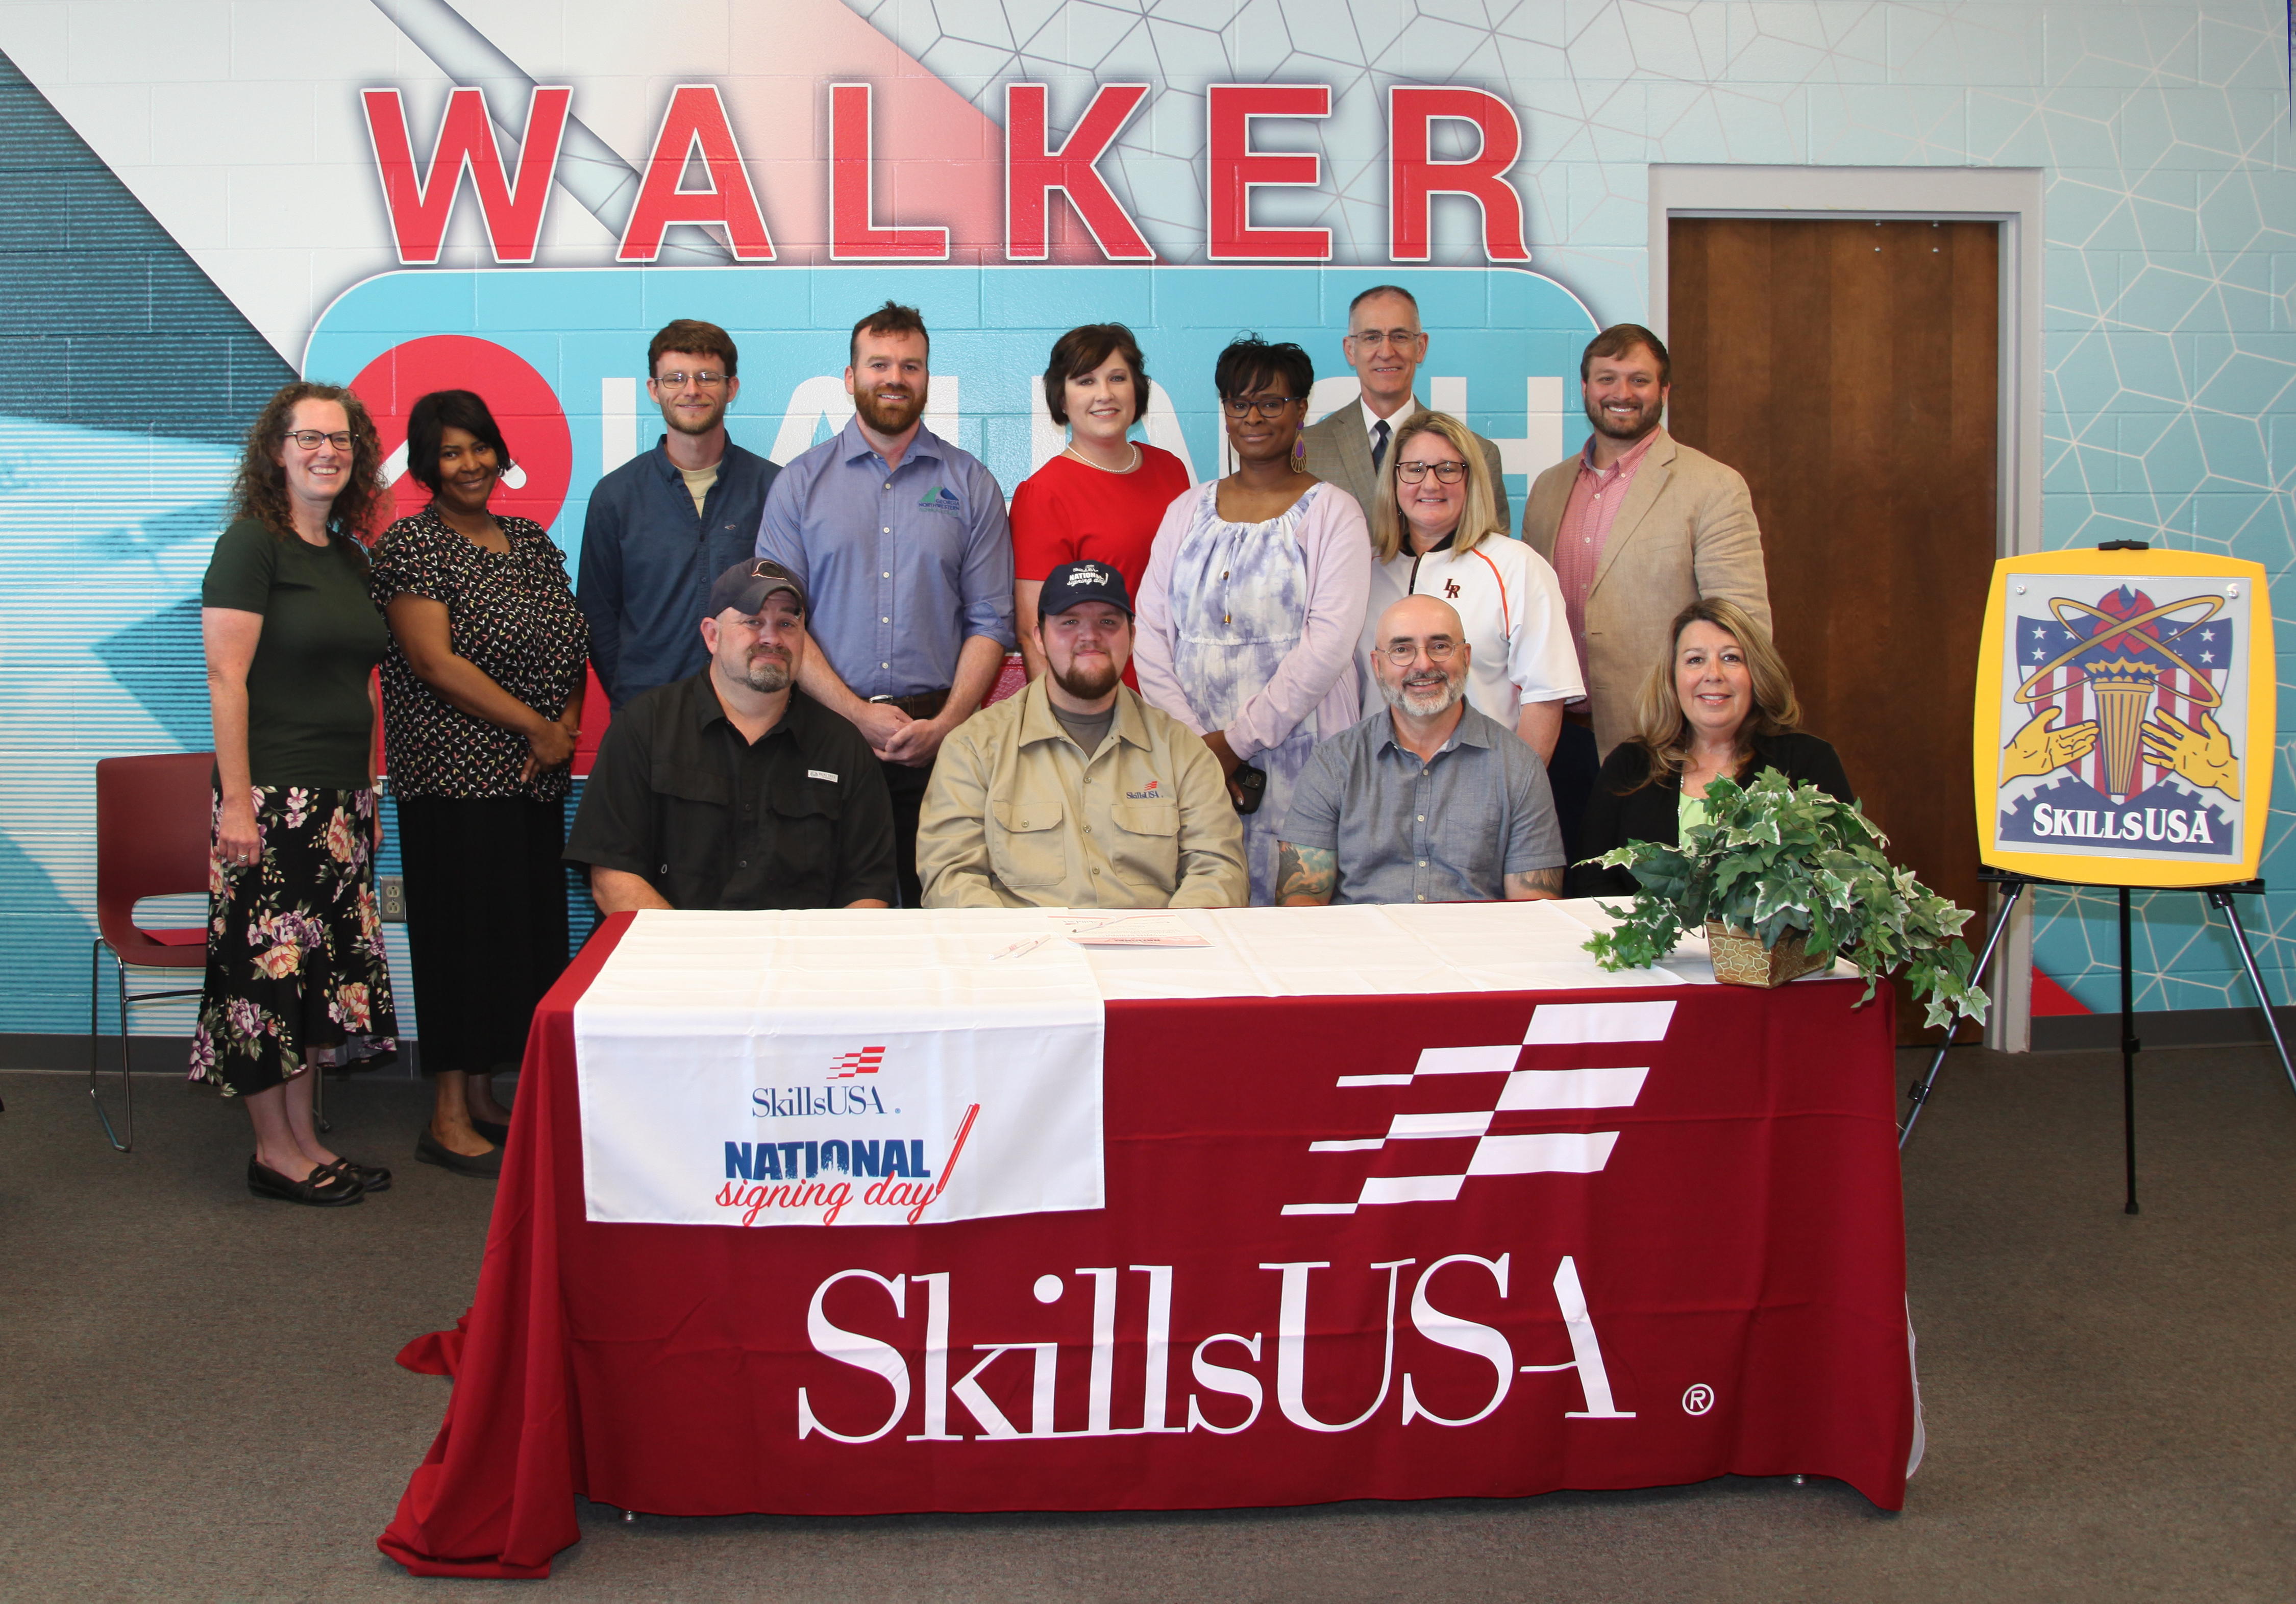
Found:
[{"label": "dark red chair with metal legs beside woman in floral skirt", "polygon": [[[214,753],[168,753],[161,757],[106,757],[96,764],[96,936],[87,955],[87,1097],[115,1152],[135,1145],[135,1088],[129,1079],[129,1010],[138,1003],[200,996],[200,987],[129,991],[129,968],[207,968],[207,925],[188,929],[142,929],[135,904],[142,897],[207,895],[207,854],[214,831],[209,773]],[[96,1081],[96,996],[103,952],[113,955],[119,994],[119,1095],[126,1140],[103,1111]]]}]

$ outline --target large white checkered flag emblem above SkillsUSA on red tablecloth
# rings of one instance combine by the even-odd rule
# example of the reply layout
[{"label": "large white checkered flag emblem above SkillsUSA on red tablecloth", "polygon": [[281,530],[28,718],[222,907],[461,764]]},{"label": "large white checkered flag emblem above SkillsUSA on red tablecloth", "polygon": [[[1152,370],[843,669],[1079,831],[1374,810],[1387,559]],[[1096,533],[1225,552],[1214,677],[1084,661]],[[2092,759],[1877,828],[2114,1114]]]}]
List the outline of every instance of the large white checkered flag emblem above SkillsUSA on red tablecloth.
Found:
[{"label": "large white checkered flag emblem above SkillsUSA on red tablecloth", "polygon": [[[1421,1076],[1502,1076],[1495,1095],[1446,1113],[1398,1113],[1384,1136],[1309,1143],[1309,1152],[1382,1152],[1387,1143],[1474,1138],[1463,1168],[1421,1175],[1366,1175],[1350,1202],[1286,1202],[1286,1214],[1355,1214],[1380,1202],[1453,1202],[1476,1175],[1593,1175],[1609,1163],[1619,1131],[1504,1131],[1499,1115],[1564,1113],[1575,1108],[1632,1108],[1649,1065],[1616,1069],[1522,1069],[1541,1046],[1587,1042],[1662,1042],[1674,1003],[1541,1003],[1522,1042],[1499,1046],[1428,1046],[1407,1074],[1343,1074],[1341,1088],[1412,1085]],[[1637,1049],[1632,1058],[1646,1058]],[[1465,1088],[1460,1088],[1465,1090]],[[1467,1099],[1463,1099],[1467,1101]],[[1518,1124],[1520,1120],[1508,1120]],[[1536,1122],[1536,1120],[1534,1120]],[[1341,1184],[1343,1186],[1343,1184]],[[1341,1186],[1334,1186],[1339,1191]]]}]

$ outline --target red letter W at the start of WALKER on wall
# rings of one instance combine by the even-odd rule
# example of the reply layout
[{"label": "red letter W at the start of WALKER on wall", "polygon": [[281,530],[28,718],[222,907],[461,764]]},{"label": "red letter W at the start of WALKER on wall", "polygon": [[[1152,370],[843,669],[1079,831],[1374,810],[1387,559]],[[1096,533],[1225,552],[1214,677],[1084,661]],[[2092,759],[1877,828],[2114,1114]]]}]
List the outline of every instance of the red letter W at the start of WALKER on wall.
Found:
[{"label": "red letter W at the start of WALKER on wall", "polygon": [[519,138],[519,177],[503,174],[503,151],[494,142],[482,89],[455,89],[445,96],[445,117],[432,142],[427,172],[416,172],[413,142],[406,138],[406,103],[397,89],[367,89],[360,103],[367,112],[367,142],[383,179],[383,204],[390,209],[390,234],[400,262],[420,266],[439,259],[445,220],[455,209],[464,168],[478,188],[478,207],[487,218],[487,243],[496,262],[533,262],[542,234],[542,209],[558,172],[558,142],[567,126],[567,87],[535,87],[526,99],[526,133]]}]

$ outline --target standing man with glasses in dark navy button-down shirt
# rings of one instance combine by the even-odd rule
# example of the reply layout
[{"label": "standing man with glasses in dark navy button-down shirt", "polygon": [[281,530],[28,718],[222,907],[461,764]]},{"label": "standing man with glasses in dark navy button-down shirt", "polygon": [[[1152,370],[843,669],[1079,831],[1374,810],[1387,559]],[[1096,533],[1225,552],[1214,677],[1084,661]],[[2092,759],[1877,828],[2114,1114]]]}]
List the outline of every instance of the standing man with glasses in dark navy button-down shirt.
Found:
[{"label": "standing man with glasses in dark navy button-down shirt", "polygon": [[693,620],[709,583],[751,555],[781,473],[726,438],[726,408],[742,395],[735,356],[716,324],[682,317],[654,335],[645,392],[668,431],[590,491],[576,599],[615,711],[709,661]]}]

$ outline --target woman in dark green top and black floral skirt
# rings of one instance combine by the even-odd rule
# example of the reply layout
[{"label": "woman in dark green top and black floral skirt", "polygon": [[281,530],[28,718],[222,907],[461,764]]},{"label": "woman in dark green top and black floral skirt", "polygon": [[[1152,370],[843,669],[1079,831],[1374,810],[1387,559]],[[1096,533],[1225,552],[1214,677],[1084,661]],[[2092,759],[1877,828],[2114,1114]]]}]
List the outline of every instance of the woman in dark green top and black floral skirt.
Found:
[{"label": "woman in dark green top and black floral skirt", "polygon": [[390,1184],[319,1143],[312,1072],[397,1042],[374,906],[374,704],[388,645],[360,532],[381,443],[358,397],[292,383],[248,431],[200,585],[216,725],[207,984],[191,1076],[255,1122],[248,1191],[335,1207]]}]

